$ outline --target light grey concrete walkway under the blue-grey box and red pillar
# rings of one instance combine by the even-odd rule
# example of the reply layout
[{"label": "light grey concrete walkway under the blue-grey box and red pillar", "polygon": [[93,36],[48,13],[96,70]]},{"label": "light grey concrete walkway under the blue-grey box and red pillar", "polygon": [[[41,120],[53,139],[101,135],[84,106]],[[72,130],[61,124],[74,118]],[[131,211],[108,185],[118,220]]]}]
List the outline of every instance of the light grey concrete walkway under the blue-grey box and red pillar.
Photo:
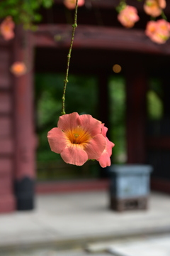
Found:
[{"label": "light grey concrete walkway under the blue-grey box and red pillar", "polygon": [[36,197],[30,212],[0,215],[0,255],[6,248],[86,247],[89,242],[170,233],[170,196],[152,193],[149,210],[116,213],[108,193],[86,192]]}]

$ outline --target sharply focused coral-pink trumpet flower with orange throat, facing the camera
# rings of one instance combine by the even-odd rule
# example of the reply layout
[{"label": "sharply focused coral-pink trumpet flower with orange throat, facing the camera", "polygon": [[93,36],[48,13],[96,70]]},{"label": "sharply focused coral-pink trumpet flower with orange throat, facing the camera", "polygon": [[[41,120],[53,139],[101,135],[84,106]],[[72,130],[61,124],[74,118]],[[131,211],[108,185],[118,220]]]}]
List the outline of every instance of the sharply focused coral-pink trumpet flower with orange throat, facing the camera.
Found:
[{"label": "sharply focused coral-pink trumpet flower with orange throat, facing the camera", "polygon": [[98,159],[106,149],[106,138],[101,134],[101,122],[90,114],[64,114],[57,127],[48,132],[50,148],[67,164],[83,165],[88,159]]}]

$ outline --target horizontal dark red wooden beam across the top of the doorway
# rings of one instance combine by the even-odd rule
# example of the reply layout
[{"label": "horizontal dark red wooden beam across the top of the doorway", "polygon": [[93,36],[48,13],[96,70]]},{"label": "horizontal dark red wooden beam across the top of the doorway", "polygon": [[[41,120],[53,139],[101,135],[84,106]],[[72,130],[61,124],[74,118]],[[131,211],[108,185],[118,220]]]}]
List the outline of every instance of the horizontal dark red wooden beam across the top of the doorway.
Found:
[{"label": "horizontal dark red wooden beam across the top of the doorway", "polygon": [[[40,25],[33,33],[33,43],[38,47],[69,48],[72,26]],[[158,45],[145,36],[145,31],[100,26],[77,27],[74,48],[127,50],[138,53],[170,55],[170,41]]]}]

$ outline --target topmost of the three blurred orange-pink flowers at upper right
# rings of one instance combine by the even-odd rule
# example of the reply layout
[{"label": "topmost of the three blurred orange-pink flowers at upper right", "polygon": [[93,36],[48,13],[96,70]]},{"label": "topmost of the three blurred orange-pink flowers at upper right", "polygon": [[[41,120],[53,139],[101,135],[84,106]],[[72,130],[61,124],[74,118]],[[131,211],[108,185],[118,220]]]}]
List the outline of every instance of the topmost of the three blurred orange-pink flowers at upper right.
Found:
[{"label": "topmost of the three blurred orange-pink flowers at upper right", "polygon": [[145,13],[153,17],[161,15],[165,7],[166,0],[146,0],[144,4]]}]

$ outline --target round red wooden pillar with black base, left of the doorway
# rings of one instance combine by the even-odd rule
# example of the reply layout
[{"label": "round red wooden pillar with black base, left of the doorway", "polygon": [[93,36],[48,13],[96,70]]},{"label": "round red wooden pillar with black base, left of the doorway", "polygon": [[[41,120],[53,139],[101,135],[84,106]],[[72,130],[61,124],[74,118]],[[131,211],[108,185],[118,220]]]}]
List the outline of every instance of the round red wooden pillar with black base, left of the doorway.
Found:
[{"label": "round red wooden pillar with black base, left of the doorway", "polygon": [[35,135],[33,126],[33,50],[29,32],[16,28],[13,61],[26,63],[28,73],[13,75],[15,97],[15,193],[18,210],[33,209]]}]

